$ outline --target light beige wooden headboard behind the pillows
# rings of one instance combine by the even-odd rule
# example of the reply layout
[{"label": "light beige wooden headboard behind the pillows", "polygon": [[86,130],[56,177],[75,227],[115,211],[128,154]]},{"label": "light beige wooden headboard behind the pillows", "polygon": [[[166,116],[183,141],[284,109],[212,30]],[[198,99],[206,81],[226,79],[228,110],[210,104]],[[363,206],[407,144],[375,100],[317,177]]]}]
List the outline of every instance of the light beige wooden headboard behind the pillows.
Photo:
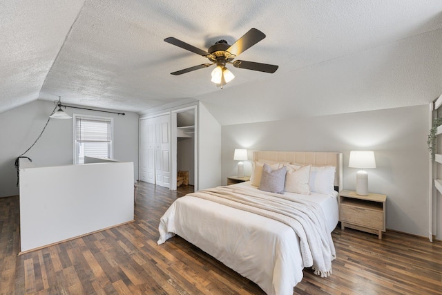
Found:
[{"label": "light beige wooden headboard behind the pillows", "polygon": [[335,166],[334,186],[343,189],[343,154],[316,151],[253,151],[253,161],[271,160],[315,166]]}]

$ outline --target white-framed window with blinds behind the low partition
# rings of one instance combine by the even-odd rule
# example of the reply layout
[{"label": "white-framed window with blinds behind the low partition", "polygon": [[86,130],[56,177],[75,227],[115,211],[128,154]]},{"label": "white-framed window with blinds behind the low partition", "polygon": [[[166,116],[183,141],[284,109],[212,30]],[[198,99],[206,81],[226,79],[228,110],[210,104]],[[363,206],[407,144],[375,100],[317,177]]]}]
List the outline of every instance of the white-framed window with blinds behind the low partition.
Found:
[{"label": "white-framed window with blinds behind the low partition", "polygon": [[73,115],[74,164],[84,164],[84,156],[113,158],[113,118]]}]

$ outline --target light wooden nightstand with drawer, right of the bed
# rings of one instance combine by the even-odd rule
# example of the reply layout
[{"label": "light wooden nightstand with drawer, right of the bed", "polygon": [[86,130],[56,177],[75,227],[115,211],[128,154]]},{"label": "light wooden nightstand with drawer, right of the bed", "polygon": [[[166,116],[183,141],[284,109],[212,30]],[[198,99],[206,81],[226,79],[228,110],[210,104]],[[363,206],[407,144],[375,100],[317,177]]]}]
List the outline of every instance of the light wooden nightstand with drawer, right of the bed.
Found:
[{"label": "light wooden nightstand with drawer, right of the bed", "polygon": [[340,191],[339,221],[340,228],[350,227],[360,231],[377,234],[382,239],[385,231],[385,201],[387,196],[369,193],[359,196],[356,191]]}]

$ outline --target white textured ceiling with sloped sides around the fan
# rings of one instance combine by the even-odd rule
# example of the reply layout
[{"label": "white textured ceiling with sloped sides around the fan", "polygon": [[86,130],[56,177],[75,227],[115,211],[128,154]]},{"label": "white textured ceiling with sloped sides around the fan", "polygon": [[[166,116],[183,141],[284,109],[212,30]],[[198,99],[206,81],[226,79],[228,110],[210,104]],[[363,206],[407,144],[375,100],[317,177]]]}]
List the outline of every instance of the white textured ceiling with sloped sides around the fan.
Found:
[{"label": "white textured ceiling with sloped sides around the fan", "polygon": [[[175,70],[250,28],[267,37],[240,59],[274,74]],[[442,91],[442,1],[1,1],[0,113],[35,99],[146,113],[202,100],[221,124],[431,102]]]}]

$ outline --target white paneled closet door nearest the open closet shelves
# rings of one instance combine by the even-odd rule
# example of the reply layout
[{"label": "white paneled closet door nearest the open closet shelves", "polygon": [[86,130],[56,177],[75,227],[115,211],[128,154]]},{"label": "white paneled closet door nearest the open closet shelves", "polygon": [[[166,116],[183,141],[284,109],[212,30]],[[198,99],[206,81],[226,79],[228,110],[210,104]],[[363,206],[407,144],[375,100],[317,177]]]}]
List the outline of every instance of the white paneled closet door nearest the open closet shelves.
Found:
[{"label": "white paneled closet door nearest the open closet shelves", "polygon": [[171,116],[155,118],[155,180],[161,187],[171,187]]}]

